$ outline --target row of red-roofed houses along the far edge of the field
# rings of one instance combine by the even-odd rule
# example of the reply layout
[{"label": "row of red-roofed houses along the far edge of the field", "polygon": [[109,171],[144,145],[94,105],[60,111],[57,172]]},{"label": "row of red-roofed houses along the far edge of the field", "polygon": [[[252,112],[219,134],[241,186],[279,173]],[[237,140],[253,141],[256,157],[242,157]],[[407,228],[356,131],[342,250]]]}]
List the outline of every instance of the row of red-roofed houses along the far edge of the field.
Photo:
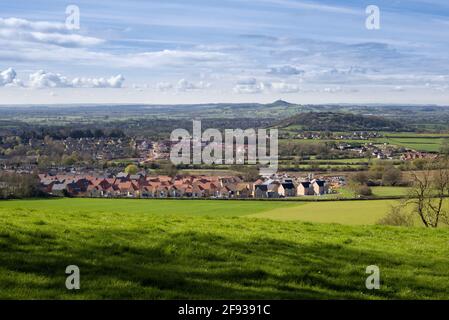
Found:
[{"label": "row of red-roofed houses along the far edge of the field", "polygon": [[93,198],[284,198],[323,195],[326,181],[259,179],[245,182],[238,176],[146,176],[119,173],[112,177],[39,175],[41,188],[54,196]]}]

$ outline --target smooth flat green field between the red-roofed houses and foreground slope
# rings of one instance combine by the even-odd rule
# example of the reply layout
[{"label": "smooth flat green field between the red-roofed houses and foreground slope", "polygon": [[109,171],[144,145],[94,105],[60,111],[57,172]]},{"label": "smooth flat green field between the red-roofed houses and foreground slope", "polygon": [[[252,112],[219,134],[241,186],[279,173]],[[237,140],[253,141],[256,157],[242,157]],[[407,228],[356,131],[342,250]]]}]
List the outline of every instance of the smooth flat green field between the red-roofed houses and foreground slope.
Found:
[{"label": "smooth flat green field between the red-roofed houses and foreground slope", "polygon": [[[378,187],[379,190],[386,187]],[[389,188],[390,189],[390,188]],[[394,190],[393,188],[391,188]],[[384,191],[386,192],[386,191]],[[391,191],[390,191],[391,192]],[[329,195],[332,196],[332,195]],[[349,193],[344,196],[350,197]],[[51,199],[0,202],[3,212],[148,214],[158,216],[257,217],[348,225],[375,224],[397,200],[319,201],[323,197],[298,197],[306,201]],[[321,199],[325,200],[325,198]]]}]

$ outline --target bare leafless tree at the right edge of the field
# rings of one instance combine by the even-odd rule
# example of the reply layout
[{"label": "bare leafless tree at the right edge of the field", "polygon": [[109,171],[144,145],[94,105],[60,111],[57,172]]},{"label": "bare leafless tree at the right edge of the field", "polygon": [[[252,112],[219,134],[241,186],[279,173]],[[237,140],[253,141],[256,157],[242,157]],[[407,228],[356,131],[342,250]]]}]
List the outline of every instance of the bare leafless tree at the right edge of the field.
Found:
[{"label": "bare leafless tree at the right edge of the field", "polygon": [[449,161],[429,161],[423,171],[412,172],[412,188],[405,205],[420,217],[426,227],[436,228],[449,221]]}]

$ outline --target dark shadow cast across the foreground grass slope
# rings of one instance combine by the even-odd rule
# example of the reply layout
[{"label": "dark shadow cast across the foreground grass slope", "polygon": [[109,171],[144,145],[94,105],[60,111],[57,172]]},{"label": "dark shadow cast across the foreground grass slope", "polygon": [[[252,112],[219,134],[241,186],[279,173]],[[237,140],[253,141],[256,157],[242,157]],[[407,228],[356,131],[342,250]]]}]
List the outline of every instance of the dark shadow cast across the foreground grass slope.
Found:
[{"label": "dark shadow cast across the foreground grass slope", "polygon": [[[117,239],[117,234],[109,229],[77,239],[70,233],[30,231],[25,238],[0,237],[0,275],[12,275],[3,284],[5,292],[14,296],[25,287],[29,298],[358,299],[406,298],[399,292],[409,288],[408,298],[416,297],[415,289],[423,297],[449,296],[447,286],[416,281],[414,272],[425,266],[406,254],[203,231],[164,232],[145,241],[133,241],[132,233]],[[64,286],[65,268],[72,264],[80,267],[82,278],[82,290],[75,294]],[[372,264],[388,278],[388,285],[375,292],[365,288],[365,268]],[[27,284],[19,275],[48,281]],[[435,276],[448,279],[448,274]]]}]

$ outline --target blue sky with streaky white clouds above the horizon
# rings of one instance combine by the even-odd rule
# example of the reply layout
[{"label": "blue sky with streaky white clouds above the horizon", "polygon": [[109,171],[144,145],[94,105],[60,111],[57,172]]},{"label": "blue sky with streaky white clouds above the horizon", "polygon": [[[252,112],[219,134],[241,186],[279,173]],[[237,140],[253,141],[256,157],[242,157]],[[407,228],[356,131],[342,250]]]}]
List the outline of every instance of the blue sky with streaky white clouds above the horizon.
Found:
[{"label": "blue sky with streaky white clouds above the horizon", "polygon": [[277,99],[449,105],[449,1],[0,1],[0,104]]}]

